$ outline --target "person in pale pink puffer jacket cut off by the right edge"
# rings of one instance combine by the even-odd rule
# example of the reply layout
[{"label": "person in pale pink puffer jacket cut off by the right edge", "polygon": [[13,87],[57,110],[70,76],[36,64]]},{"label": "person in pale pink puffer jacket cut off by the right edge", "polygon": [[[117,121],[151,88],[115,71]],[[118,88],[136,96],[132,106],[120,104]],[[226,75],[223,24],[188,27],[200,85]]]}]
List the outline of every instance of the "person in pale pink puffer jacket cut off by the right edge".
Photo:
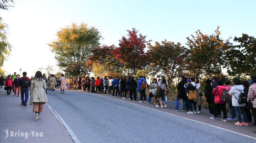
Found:
[{"label": "person in pale pink puffer jacket cut off by the right edge", "polygon": [[[252,102],[253,107],[252,107],[252,113],[253,113],[253,118],[254,118],[254,123],[252,125],[256,125],[256,76],[253,75],[251,76],[251,81],[249,82],[249,84],[251,84],[251,86],[249,87],[249,91],[248,91],[248,97],[247,97],[247,102]],[[256,133],[256,131],[254,131],[254,133]]]}]

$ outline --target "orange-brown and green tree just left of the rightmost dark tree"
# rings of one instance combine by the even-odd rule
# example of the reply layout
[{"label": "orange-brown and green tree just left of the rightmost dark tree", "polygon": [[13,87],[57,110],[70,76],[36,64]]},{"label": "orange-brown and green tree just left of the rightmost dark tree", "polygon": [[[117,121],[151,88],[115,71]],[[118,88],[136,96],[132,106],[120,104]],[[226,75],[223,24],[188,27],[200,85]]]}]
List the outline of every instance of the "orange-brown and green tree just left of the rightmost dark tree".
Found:
[{"label": "orange-brown and green tree just left of the rightmost dark tree", "polygon": [[189,73],[195,76],[209,77],[213,75],[222,77],[222,68],[227,64],[224,60],[225,52],[231,47],[229,39],[220,38],[219,27],[215,34],[205,35],[201,31],[195,32],[196,36],[187,37],[188,57],[185,63]]}]

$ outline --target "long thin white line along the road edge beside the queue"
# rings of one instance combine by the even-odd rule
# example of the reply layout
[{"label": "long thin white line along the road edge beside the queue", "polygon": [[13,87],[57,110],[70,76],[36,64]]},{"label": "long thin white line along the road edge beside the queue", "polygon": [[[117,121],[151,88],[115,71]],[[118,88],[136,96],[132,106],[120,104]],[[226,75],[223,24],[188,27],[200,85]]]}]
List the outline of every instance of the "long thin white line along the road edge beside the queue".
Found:
[{"label": "long thin white line along the road edge beside the queue", "polygon": [[[85,93],[87,93],[87,92],[85,92]],[[88,94],[92,94],[92,93],[88,93]],[[98,95],[98,94],[93,94],[93,95],[102,96],[102,97],[107,97],[107,96]],[[111,97],[107,97],[107,98],[111,98]],[[111,99],[115,99],[115,98],[111,98]],[[119,99],[115,99],[115,100],[119,100]],[[123,101],[123,100],[119,100],[119,101]],[[134,104],[134,105],[138,105],[138,104],[131,103],[131,102],[127,102],[127,101],[123,101],[123,102],[130,103],[130,104]],[[156,110],[156,109],[152,109],[152,108],[145,107],[145,106],[142,106],[142,105],[138,105],[138,106],[141,106],[141,107],[144,107],[144,108],[148,108],[148,109],[151,109],[151,110]],[[163,112],[163,111],[160,111],[160,110],[156,110],[156,111]],[[226,131],[230,131],[230,132],[232,132],[232,133],[236,133],[236,134],[239,134],[239,135],[242,135],[242,136],[246,136],[246,137],[249,137],[249,138],[253,138],[253,139],[256,140],[256,138],[253,137],[253,136],[244,135],[244,134],[242,134],[242,133],[238,133],[238,132],[235,132],[235,131],[231,131],[231,130],[228,130],[228,129],[224,129],[224,128],[221,128],[221,127],[218,127],[218,126],[215,126],[215,125],[210,125],[210,124],[208,124],[208,123],[196,121],[196,120],[193,120],[193,119],[185,118],[185,117],[178,116],[178,115],[175,115],[175,114],[171,114],[171,113],[167,113],[167,112],[163,112],[163,113],[166,113],[166,114],[169,114],[169,115],[172,115],[172,116],[176,116],[176,117],[180,117],[180,118],[184,118],[184,119],[187,119],[187,120],[195,121],[195,122],[198,122],[198,123],[203,123],[203,124],[209,125],[209,126],[211,126],[211,127],[215,127],[215,128],[222,129],[222,130],[226,130]]]}]

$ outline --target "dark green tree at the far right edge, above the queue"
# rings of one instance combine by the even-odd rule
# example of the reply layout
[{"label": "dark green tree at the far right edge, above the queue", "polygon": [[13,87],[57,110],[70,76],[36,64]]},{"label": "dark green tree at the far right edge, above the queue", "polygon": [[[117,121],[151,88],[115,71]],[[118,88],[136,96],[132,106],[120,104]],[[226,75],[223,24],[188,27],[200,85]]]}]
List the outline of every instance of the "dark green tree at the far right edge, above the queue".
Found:
[{"label": "dark green tree at the far right edge, above the queue", "polygon": [[256,75],[256,38],[242,34],[242,37],[235,37],[234,45],[226,52],[228,60],[228,74],[234,77]]}]

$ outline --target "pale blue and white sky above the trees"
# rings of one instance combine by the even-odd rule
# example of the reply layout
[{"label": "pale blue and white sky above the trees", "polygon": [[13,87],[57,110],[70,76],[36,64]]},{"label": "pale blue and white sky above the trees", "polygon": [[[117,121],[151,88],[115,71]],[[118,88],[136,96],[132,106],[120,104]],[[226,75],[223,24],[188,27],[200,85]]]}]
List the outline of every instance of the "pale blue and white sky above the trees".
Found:
[{"label": "pale blue and white sky above the trees", "polygon": [[[204,34],[214,33],[220,26],[221,37],[256,36],[256,1],[67,1],[15,0],[15,7],[1,10],[0,16],[9,25],[12,55],[4,69],[13,73],[22,68],[28,75],[41,66],[55,66],[54,54],[47,45],[56,38],[56,32],[71,22],[85,22],[102,32],[101,43],[118,46],[126,30],[135,27],[154,42],[167,39],[185,45],[186,37],[200,29]],[[33,60],[20,62],[20,52],[30,53]],[[44,53],[44,55],[37,56]],[[47,56],[46,56],[47,55]],[[40,57],[40,58],[38,58]],[[17,66],[14,66],[17,65]]]}]

